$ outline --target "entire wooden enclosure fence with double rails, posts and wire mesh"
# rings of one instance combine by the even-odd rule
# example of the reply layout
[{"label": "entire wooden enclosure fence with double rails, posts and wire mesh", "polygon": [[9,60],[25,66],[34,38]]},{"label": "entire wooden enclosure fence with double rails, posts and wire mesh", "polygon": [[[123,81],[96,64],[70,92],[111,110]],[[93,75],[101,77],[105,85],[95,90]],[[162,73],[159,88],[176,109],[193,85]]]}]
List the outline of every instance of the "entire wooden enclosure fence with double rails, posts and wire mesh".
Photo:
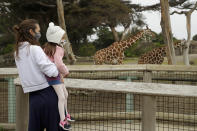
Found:
[{"label": "entire wooden enclosure fence with double rails, posts and wire mesh", "polygon": [[[163,66],[163,65],[121,65],[121,66],[68,66],[70,69],[69,78],[65,79],[65,83],[67,88],[70,91],[71,98],[69,99],[69,105],[72,105],[72,102],[77,102],[74,109],[83,109],[76,110],[74,112],[71,111],[72,115],[77,119],[78,122],[90,122],[97,121],[93,123],[90,127],[84,125],[84,127],[80,125],[76,125],[74,130],[113,130],[113,126],[115,126],[114,130],[134,130],[134,131],[155,131],[156,120],[159,121],[172,121],[178,122],[179,124],[182,122],[194,124],[194,129],[186,129],[184,127],[184,131],[195,131],[197,124],[197,116],[196,116],[196,107],[195,107],[195,98],[196,98],[196,86],[191,86],[190,84],[196,85],[196,76],[197,76],[197,67],[194,66]],[[129,72],[129,73],[128,73]],[[175,73],[176,72],[176,73]],[[8,68],[8,69],[0,69],[1,78],[15,78],[17,76],[16,69]],[[73,79],[74,78],[74,79]],[[80,79],[76,79],[80,78]],[[125,82],[126,79],[130,79],[132,82]],[[87,80],[89,79],[89,80]],[[93,79],[93,80],[90,80]],[[102,79],[102,80],[95,80]],[[117,81],[120,79],[119,81]],[[124,79],[124,80],[123,80]],[[5,79],[6,80],[6,79]],[[110,80],[110,81],[109,81]],[[155,84],[163,81],[172,80],[170,84]],[[7,81],[7,80],[6,80]],[[124,82],[123,82],[124,81]],[[138,83],[138,82],[146,82],[146,83]],[[186,85],[172,85],[179,84],[177,81],[182,82],[185,81]],[[189,81],[189,83],[187,83]],[[154,83],[148,83],[154,82]],[[9,82],[8,82],[9,83]],[[181,83],[183,84],[183,83]],[[184,83],[185,84],[185,83]],[[189,85],[188,85],[189,84]],[[9,85],[9,84],[8,84]],[[20,131],[25,130],[25,126],[27,126],[28,119],[28,94],[23,96],[22,89],[20,87],[20,83],[16,80],[16,94],[11,94],[12,97],[10,100],[14,101],[16,99],[16,125],[14,121],[10,121],[8,123],[1,123],[0,127],[4,127],[6,129],[19,129]],[[10,86],[13,88],[13,86]],[[15,90],[14,89],[14,90]],[[9,92],[9,91],[8,91]],[[12,90],[13,92],[13,90]],[[89,93],[90,92],[90,93]],[[80,96],[76,95],[77,93]],[[98,96],[94,96],[95,94],[99,94]],[[102,95],[104,94],[104,95]],[[111,95],[110,94],[115,94]],[[16,95],[16,98],[14,97]],[[116,99],[115,96],[120,98]],[[18,97],[20,96],[20,97]],[[27,98],[27,99],[22,99]],[[82,97],[81,97],[82,96]],[[127,98],[126,96],[133,96]],[[136,97],[137,96],[137,97]],[[138,98],[139,97],[139,98]],[[165,101],[160,97],[166,99]],[[172,101],[169,100],[172,97]],[[181,100],[179,100],[181,97]],[[93,103],[88,101],[87,99],[93,99]],[[98,99],[100,103],[97,102]],[[102,99],[103,98],[103,99]],[[107,99],[112,99],[111,103],[106,101]],[[116,105],[114,105],[115,99]],[[122,99],[122,101],[118,101]],[[188,99],[188,100],[187,100]],[[178,100],[178,102],[176,102]],[[183,101],[182,101],[183,100]],[[172,102],[173,105],[167,107],[166,105]],[[13,103],[13,102],[11,102]],[[106,103],[102,105],[102,103]],[[137,103],[137,104],[136,104]],[[179,107],[179,104],[185,104],[183,107]],[[187,104],[186,104],[187,103]],[[24,108],[23,105],[26,105]],[[86,107],[90,104],[90,107]],[[104,106],[103,109],[97,110],[99,106]],[[136,106],[137,105],[137,106]],[[139,107],[138,107],[139,105]],[[81,106],[81,107],[80,107]],[[95,106],[95,107],[94,107]],[[113,107],[111,107],[113,106]],[[115,106],[115,107],[114,107]],[[191,107],[192,110],[187,111],[187,106]],[[128,108],[127,108],[128,107]],[[180,109],[176,109],[179,107]],[[8,101],[9,108],[9,101]],[[90,109],[89,109],[90,108]],[[93,109],[95,108],[95,109]],[[110,111],[106,111],[107,108],[111,108]],[[119,109],[120,108],[120,109]],[[127,108],[127,109],[126,109]],[[162,108],[160,110],[159,108]],[[169,109],[166,109],[169,108]],[[171,109],[173,108],[173,109]],[[10,108],[11,112],[15,108]],[[165,111],[164,111],[165,110]],[[185,111],[184,111],[185,110]],[[10,112],[9,111],[9,112]],[[95,112],[93,112],[95,111]],[[20,116],[21,113],[23,117]],[[8,113],[11,117],[15,117],[14,112]],[[8,116],[9,118],[9,116]],[[118,118],[118,119],[117,119]],[[151,118],[151,119],[150,119]],[[21,122],[22,119],[25,119],[25,123]],[[114,120],[119,120],[120,122],[116,122],[113,124]],[[125,122],[123,122],[125,120]],[[101,128],[100,126],[107,125],[112,121],[112,127],[104,126]],[[142,124],[136,124],[136,121],[141,121]],[[18,123],[19,122],[19,123]],[[120,127],[117,123],[124,123]],[[125,124],[126,123],[126,124]],[[129,124],[128,124],[129,123]],[[83,124],[83,123],[82,123]],[[127,127],[127,125],[137,125],[135,127]],[[162,129],[158,129],[160,131]],[[178,131],[178,128],[173,127],[173,131]],[[164,131],[164,128],[163,130]]]}]

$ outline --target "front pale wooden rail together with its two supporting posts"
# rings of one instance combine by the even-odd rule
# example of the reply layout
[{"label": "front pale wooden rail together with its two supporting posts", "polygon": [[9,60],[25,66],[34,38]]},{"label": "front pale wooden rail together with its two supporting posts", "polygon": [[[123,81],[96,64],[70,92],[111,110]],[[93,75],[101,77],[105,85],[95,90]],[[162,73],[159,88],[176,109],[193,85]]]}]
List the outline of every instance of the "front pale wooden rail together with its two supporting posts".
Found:
[{"label": "front pale wooden rail together with its two supporting posts", "polygon": [[[144,81],[151,81],[150,72],[145,74]],[[156,131],[156,96],[197,97],[197,87],[188,85],[129,83],[83,79],[65,79],[65,83],[68,89],[142,95],[142,131]],[[15,81],[15,84],[17,86],[16,130],[26,131],[28,124],[28,95],[23,93],[18,80]]]}]

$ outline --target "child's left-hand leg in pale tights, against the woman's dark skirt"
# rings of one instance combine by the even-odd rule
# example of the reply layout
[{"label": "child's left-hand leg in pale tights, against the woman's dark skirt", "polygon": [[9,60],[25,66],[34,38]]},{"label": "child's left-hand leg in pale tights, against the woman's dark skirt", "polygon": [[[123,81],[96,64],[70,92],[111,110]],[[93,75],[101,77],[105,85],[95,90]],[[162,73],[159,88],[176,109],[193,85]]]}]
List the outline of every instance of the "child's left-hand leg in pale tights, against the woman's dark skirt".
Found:
[{"label": "child's left-hand leg in pale tights, against the woman's dark skirt", "polygon": [[64,102],[65,102],[65,95],[64,95],[64,87],[62,84],[53,85],[53,88],[58,96],[58,109],[60,114],[60,120],[63,121],[65,119],[65,112],[64,112]]}]

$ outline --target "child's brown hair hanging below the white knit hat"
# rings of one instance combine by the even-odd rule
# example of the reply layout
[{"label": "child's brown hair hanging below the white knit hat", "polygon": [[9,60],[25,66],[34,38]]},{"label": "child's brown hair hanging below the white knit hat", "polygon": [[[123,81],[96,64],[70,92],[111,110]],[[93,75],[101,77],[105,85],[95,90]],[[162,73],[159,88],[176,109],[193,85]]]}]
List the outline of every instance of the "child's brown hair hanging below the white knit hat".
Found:
[{"label": "child's brown hair hanging below the white knit hat", "polygon": [[43,45],[43,50],[47,56],[53,57],[56,52],[56,46],[58,46],[58,44],[53,42],[47,42]]}]

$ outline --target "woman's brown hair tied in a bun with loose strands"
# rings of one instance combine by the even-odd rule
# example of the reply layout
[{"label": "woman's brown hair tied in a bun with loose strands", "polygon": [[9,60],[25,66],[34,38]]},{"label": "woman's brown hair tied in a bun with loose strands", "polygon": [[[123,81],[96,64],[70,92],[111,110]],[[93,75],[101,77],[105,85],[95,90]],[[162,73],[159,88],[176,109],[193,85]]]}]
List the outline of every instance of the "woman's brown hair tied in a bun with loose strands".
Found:
[{"label": "woman's brown hair tied in a bun with loose strands", "polygon": [[15,37],[16,37],[15,51],[16,51],[17,58],[19,54],[20,42],[27,41],[31,45],[40,45],[40,43],[36,40],[36,38],[32,36],[29,32],[30,29],[35,31],[36,24],[38,24],[38,21],[34,19],[27,19],[27,20],[22,21],[19,25],[15,25],[13,27],[13,30],[15,32]]}]

